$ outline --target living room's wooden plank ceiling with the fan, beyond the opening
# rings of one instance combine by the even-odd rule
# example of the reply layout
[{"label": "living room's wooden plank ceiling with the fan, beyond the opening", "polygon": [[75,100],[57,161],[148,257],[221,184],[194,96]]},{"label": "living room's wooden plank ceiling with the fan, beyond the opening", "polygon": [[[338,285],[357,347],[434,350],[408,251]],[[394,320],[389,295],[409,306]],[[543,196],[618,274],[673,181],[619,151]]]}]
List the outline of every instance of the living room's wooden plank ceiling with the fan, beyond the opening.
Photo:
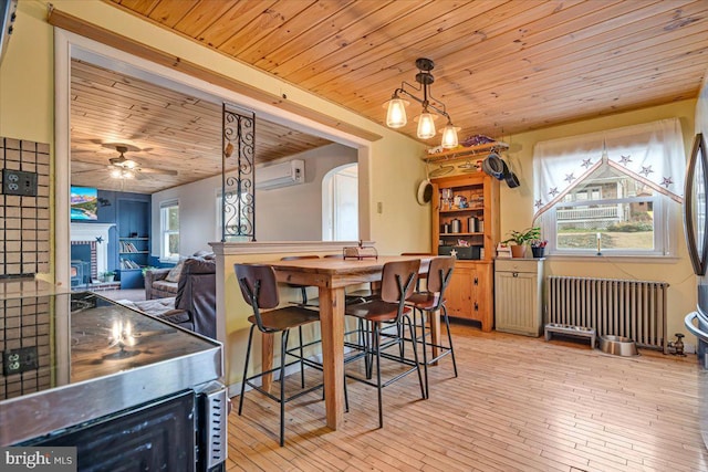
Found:
[{"label": "living room's wooden plank ceiling with the fan, beyond the opening", "polygon": [[[153,193],[221,172],[221,104],[72,61],[72,185]],[[259,119],[256,162],[329,144]],[[136,178],[111,177],[116,146],[139,164]]]}]

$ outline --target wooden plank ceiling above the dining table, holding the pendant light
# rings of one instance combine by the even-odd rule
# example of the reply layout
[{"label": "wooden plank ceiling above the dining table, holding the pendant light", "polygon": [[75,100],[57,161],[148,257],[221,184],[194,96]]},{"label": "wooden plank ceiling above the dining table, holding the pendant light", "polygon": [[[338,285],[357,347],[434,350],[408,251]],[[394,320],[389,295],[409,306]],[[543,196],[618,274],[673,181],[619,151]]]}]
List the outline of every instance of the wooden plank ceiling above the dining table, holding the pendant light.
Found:
[{"label": "wooden plank ceiling above the dining table, holding the pendant light", "polygon": [[429,57],[461,138],[693,98],[708,69],[706,0],[111,1],[377,123]]}]

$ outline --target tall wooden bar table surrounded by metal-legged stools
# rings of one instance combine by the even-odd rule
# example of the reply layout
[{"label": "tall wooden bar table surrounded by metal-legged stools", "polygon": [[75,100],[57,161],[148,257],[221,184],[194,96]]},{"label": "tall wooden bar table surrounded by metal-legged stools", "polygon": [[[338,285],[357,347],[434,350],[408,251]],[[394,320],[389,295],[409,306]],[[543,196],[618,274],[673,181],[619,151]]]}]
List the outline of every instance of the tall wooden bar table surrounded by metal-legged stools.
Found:
[{"label": "tall wooden bar table surrounded by metal-legged stools", "polygon": [[[430,258],[394,255],[362,260],[324,258],[268,262],[275,270],[279,282],[320,289],[324,402],[330,428],[336,430],[344,420],[344,289],[381,281],[386,262],[419,259],[420,273],[427,272]],[[263,368],[270,368],[271,343],[264,343],[262,354]]]}]

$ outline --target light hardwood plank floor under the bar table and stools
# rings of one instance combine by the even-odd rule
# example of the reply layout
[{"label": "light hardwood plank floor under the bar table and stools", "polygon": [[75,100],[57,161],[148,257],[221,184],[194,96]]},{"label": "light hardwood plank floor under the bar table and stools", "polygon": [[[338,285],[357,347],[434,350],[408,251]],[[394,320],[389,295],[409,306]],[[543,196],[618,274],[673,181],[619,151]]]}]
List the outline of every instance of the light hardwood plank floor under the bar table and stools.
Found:
[{"label": "light hardwood plank floor under the bar table and stools", "polygon": [[288,403],[284,448],[278,405],[247,392],[239,417],[235,397],[227,470],[708,471],[698,424],[708,376],[695,355],[616,357],[462,325],[454,335],[459,377],[448,357],[430,369],[428,400],[415,375],[386,387],[383,429],[376,390],[351,380],[337,431],[321,394]]}]

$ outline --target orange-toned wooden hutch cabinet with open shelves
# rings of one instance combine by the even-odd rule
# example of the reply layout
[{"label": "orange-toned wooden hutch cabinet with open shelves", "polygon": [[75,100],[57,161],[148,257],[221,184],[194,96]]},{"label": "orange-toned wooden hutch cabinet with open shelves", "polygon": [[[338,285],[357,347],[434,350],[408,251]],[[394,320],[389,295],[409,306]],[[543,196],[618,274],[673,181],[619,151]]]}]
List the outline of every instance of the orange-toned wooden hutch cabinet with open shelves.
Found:
[{"label": "orange-toned wooden hutch cabinet with open shelves", "polygon": [[[493,256],[499,241],[499,180],[476,171],[430,181],[433,251],[466,252],[465,256],[479,258],[460,259],[458,254],[446,292],[448,314],[479,322],[483,332],[490,332],[494,323]],[[458,245],[462,248],[456,248]]]}]

